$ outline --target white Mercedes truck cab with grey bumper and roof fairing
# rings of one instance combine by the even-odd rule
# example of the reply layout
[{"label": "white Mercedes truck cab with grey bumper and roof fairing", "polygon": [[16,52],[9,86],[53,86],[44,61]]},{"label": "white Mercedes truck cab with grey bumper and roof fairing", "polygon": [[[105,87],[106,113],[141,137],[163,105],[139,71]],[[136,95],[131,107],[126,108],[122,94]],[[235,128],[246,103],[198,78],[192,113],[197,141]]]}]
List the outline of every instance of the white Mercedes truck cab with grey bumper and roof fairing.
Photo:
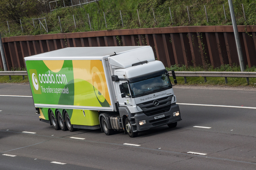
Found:
[{"label": "white Mercedes truck cab with grey bumper and roof fairing", "polygon": [[[121,126],[118,129],[123,128],[130,137],[158,126],[176,127],[181,115],[173,84],[163,63],[155,60],[151,47],[140,53],[135,50],[107,59],[119,113],[110,118],[111,125],[118,117],[116,124]],[[174,72],[173,78],[177,83]]]}]

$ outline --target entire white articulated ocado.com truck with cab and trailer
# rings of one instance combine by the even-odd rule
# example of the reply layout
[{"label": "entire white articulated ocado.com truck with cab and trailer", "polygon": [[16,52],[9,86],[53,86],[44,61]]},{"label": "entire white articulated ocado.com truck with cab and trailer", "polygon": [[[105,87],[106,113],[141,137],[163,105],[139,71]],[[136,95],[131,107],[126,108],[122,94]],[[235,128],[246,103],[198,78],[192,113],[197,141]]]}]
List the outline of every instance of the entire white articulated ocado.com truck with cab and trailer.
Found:
[{"label": "entire white articulated ocado.com truck with cab and trailer", "polygon": [[75,47],[25,57],[39,119],[55,130],[106,135],[181,120],[168,71],[150,46]]}]

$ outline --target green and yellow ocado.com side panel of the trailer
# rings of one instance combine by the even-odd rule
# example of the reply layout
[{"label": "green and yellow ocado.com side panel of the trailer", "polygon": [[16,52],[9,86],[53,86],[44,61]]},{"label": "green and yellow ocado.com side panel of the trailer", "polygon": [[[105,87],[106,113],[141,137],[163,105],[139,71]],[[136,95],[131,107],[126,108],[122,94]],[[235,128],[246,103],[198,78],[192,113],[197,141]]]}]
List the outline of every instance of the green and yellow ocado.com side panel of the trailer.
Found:
[{"label": "green and yellow ocado.com side panel of the trailer", "polygon": [[68,112],[73,125],[99,125],[98,111],[113,111],[103,60],[26,60],[40,119]]}]

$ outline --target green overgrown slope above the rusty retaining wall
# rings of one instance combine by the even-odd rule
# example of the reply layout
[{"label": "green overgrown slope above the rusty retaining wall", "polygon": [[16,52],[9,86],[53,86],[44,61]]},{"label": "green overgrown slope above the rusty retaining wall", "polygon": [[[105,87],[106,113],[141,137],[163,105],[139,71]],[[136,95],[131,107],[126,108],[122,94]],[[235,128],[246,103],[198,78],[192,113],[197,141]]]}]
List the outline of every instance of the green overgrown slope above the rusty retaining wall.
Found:
[{"label": "green overgrown slope above the rusty retaining wall", "polygon": [[[171,26],[232,25],[228,0],[99,0],[74,7],[67,7],[71,5],[70,0],[64,0],[66,8],[63,8],[63,0],[59,0],[57,6],[56,2],[50,3],[53,11],[50,11],[49,1],[51,0],[2,0],[0,2],[0,32],[2,37],[46,34],[47,32],[42,25],[40,29],[38,20],[34,20],[36,29],[34,28],[32,18],[46,18],[48,33]],[[77,2],[78,0],[72,0],[73,5],[76,5]],[[86,1],[80,0],[80,2]],[[255,25],[255,0],[233,0],[233,4],[238,25]],[[246,21],[242,4],[244,5]],[[223,5],[227,20],[225,19]],[[190,20],[188,19],[187,8]],[[7,13],[6,10],[9,12]],[[138,19],[137,10],[140,20]],[[60,17],[60,23],[58,17]],[[21,19],[23,31],[19,19]],[[8,21],[10,33],[6,21]],[[45,21],[43,19],[40,19],[40,21],[46,27]]]}]

